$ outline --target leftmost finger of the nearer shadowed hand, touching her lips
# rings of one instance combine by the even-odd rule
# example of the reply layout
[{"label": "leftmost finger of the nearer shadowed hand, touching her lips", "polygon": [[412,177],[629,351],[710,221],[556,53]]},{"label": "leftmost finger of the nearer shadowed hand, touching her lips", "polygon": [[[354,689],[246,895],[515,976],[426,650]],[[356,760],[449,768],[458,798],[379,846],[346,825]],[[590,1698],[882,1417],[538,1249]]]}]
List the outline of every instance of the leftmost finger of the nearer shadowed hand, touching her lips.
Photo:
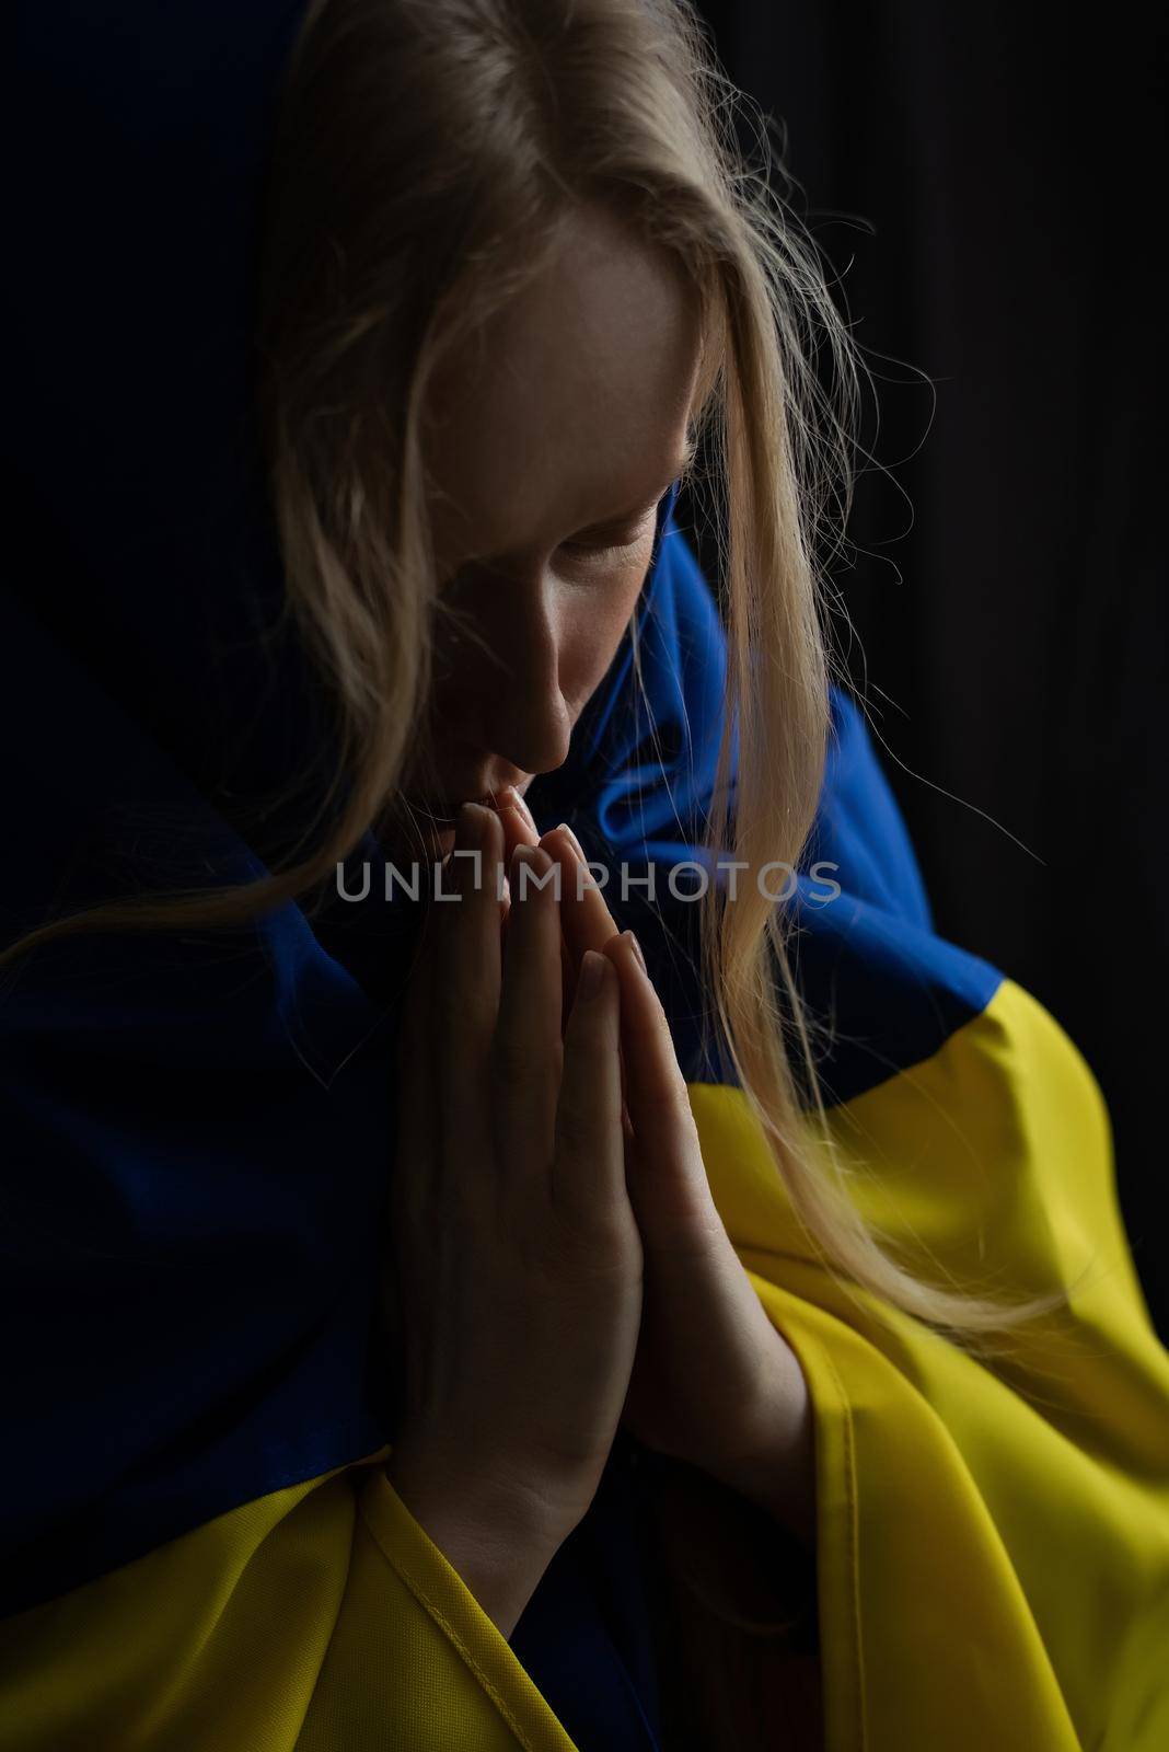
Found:
[{"label": "leftmost finger of the nearer shadowed hand, touching her lips", "polygon": [[[460,1172],[458,1198],[444,1204],[471,1211],[492,1190],[490,1051],[499,1016],[500,930],[495,869],[502,825],[492,809],[466,802],[458,811],[453,881],[446,899],[430,902],[434,915],[434,1055],[441,1153],[439,1172]],[[466,853],[480,853],[478,858]],[[427,922],[430,923],[430,922]],[[478,1172],[476,1172],[478,1170]],[[492,1193],[494,1197],[494,1193]]]}]

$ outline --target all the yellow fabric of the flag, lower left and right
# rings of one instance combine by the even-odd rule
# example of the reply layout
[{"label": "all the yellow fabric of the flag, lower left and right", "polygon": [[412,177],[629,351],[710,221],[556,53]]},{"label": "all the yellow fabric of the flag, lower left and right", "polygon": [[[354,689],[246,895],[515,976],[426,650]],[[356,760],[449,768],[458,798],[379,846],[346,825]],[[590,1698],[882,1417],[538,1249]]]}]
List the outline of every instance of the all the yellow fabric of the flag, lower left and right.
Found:
[{"label": "all the yellow fabric of the flag, lower left and right", "polygon": [[[1074,1046],[1006,981],[833,1114],[861,1207],[922,1268],[1071,1288],[990,1363],[852,1300],[742,1093],[691,1102],[812,1395],[826,1752],[1166,1752],[1169,1353]],[[385,1452],[4,1621],[0,1752],[572,1752]]]}]

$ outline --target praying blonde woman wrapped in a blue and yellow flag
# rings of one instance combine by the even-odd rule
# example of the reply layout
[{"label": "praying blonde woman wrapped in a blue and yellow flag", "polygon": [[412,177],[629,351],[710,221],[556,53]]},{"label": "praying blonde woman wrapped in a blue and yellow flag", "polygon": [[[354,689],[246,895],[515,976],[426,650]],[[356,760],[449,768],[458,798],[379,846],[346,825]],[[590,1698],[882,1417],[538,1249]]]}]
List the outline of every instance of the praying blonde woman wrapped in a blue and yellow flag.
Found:
[{"label": "praying blonde woman wrapped in a blue and yellow flag", "polygon": [[849,350],[691,14],[18,96],[0,1747],[1152,1752],[1106,1114],[830,687]]}]

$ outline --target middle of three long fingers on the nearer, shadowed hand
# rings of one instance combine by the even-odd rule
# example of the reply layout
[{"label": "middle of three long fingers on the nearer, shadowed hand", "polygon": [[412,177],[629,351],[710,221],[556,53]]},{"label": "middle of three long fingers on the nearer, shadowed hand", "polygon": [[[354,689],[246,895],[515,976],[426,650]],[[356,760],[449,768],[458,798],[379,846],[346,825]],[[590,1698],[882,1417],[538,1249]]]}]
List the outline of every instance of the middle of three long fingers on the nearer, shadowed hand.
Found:
[{"label": "middle of three long fingers on the nearer, shadowed hand", "polygon": [[[530,1174],[546,1183],[564,1049],[564,976],[556,867],[539,846],[518,844],[511,862],[511,911],[492,1044],[492,1091],[508,1191],[528,1200]],[[546,1184],[544,1184],[546,1193]]]}]

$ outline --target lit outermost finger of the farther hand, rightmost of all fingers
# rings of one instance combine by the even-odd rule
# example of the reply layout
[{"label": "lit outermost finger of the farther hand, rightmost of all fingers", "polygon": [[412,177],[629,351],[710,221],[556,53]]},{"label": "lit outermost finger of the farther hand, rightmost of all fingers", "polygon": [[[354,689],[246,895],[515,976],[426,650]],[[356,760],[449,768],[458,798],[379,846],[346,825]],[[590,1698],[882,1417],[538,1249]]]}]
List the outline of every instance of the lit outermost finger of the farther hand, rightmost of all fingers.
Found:
[{"label": "lit outermost finger of the farther hand, rightmost of all fingers", "polygon": [[632,930],[611,937],[618,971],[625,1100],[635,1139],[630,1198],[649,1247],[705,1247],[724,1235],[702,1162],[690,1091],[662,1000]]}]

